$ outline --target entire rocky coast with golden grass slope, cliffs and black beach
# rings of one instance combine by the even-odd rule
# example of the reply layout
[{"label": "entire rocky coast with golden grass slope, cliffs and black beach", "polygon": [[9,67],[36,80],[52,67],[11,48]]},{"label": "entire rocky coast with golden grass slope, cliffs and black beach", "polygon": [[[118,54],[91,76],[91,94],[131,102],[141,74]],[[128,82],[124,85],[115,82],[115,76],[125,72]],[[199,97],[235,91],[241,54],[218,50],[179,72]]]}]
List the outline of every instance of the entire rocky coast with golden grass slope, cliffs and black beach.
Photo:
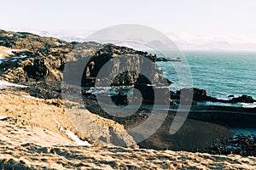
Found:
[{"label": "entire rocky coast with golden grass slope, cliffs and black beach", "polygon": [[[3,169],[256,167],[256,136],[234,136],[232,130],[256,128],[256,109],[201,105],[203,102],[250,104],[255,99],[248,95],[218,99],[204,89],[192,87],[170,91],[172,79],[163,75],[156,62],[179,62],[179,59],[162,59],[109,43],[67,42],[3,30],[0,54],[0,166]],[[136,57],[129,58],[130,55]],[[125,67],[119,56],[128,59],[125,58],[125,66],[133,71],[118,74]],[[145,65],[147,60],[150,65]],[[104,68],[109,61],[111,69]],[[97,82],[102,68],[106,75],[118,76],[100,77]],[[151,81],[139,73],[142,69],[147,70]],[[97,86],[102,88],[101,93],[96,93],[96,83],[100,83]],[[104,87],[109,84],[116,88],[112,94]],[[75,96],[78,87],[81,98]],[[137,97],[126,93],[131,87],[140,91],[143,100],[130,116],[108,114],[97,102],[101,98],[109,108],[113,104],[137,103]],[[170,94],[169,98],[155,99],[155,91],[164,96]],[[192,94],[193,99],[190,101],[184,94]],[[109,101],[109,95],[113,102]],[[164,122],[147,139],[137,143],[129,129],[142,124],[149,116],[160,117],[165,111],[159,106],[152,112],[152,105],[161,101],[169,106]],[[177,133],[171,134],[178,105],[189,103],[192,106],[186,121]],[[132,107],[124,109],[122,114]],[[78,119],[78,112],[84,122]],[[77,124],[84,128],[78,129]]]}]

